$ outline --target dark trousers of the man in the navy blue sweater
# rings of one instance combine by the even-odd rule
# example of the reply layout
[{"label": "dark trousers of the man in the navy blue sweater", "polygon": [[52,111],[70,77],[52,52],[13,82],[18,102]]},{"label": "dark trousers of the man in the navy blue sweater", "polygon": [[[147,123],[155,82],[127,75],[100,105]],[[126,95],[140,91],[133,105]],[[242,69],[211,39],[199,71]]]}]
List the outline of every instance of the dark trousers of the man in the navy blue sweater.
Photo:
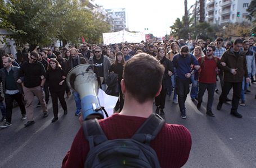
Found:
[{"label": "dark trousers of the man in the navy blue sweater", "polygon": [[176,90],[178,95],[179,110],[186,110],[185,101],[187,99],[187,94],[190,92],[190,78],[176,78]]}]

